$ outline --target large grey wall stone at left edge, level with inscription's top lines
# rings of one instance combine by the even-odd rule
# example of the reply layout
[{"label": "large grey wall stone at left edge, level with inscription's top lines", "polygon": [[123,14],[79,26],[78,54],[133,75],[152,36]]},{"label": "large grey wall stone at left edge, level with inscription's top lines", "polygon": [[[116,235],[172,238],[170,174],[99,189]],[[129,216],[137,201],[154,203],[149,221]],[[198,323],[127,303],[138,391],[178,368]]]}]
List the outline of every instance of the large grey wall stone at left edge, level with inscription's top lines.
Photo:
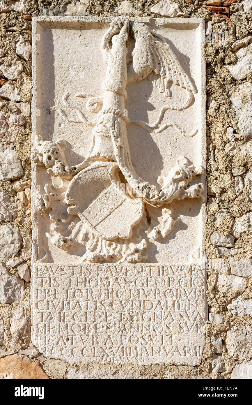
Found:
[{"label": "large grey wall stone at left edge, level with inscription's top lines", "polygon": [[4,264],[0,263],[0,304],[22,301],[23,291],[23,280],[11,275]]}]

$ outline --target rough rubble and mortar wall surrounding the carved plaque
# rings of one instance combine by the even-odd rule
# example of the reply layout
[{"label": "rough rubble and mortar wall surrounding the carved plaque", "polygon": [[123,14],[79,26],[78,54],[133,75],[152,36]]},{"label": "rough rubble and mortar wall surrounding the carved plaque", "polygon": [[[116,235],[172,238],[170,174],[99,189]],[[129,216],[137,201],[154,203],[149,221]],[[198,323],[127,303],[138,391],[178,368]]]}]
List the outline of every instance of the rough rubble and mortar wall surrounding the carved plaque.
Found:
[{"label": "rough rubble and mortar wall surrounding the carved plaque", "polygon": [[[30,339],[31,19],[38,15],[160,17],[150,11],[157,0],[0,3],[0,378],[8,373],[14,378],[252,377],[252,1],[228,5],[226,18],[212,17],[214,10],[199,7],[227,3],[220,2],[177,1],[180,11],[208,22],[204,47],[210,315],[199,367],[70,367],[45,358]],[[167,11],[165,15],[169,16]],[[212,32],[222,33],[222,40],[215,42]],[[13,254],[15,259],[9,260]]]}]

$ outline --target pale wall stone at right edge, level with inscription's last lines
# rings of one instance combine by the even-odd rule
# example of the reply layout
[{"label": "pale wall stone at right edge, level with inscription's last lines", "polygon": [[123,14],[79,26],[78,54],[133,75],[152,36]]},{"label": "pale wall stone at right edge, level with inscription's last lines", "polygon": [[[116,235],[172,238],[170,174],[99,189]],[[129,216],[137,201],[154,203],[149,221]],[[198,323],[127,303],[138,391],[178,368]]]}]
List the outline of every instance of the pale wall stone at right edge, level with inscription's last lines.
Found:
[{"label": "pale wall stone at right edge, level with inscription's last lines", "polygon": [[227,354],[235,360],[252,358],[252,329],[243,326],[241,329],[233,327],[227,331]]}]

